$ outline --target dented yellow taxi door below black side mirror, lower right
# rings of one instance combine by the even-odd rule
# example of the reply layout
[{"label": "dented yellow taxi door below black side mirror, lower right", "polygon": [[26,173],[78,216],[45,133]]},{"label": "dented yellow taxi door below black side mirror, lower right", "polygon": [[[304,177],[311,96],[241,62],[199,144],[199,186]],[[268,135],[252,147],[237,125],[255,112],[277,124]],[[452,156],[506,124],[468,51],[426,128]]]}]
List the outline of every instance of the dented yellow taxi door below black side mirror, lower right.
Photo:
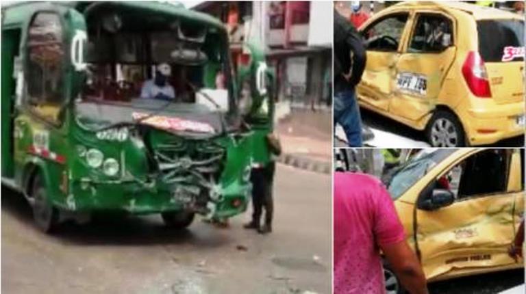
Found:
[{"label": "dented yellow taxi door below black side mirror, lower right", "polygon": [[[466,271],[521,266],[522,262],[508,256],[524,204],[518,150],[508,152],[507,162],[505,191],[459,197],[440,209],[416,209],[416,248],[429,280]],[[450,166],[441,176],[452,170]]]}]

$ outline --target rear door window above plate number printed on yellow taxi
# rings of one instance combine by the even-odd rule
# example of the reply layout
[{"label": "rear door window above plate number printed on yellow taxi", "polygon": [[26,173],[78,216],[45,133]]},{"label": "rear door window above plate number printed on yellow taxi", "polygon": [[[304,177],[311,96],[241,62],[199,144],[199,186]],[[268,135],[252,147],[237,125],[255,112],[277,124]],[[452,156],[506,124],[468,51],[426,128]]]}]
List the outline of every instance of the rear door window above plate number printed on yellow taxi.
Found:
[{"label": "rear door window above plate number printed on yellow taxi", "polygon": [[437,14],[420,14],[408,52],[440,53],[453,44],[453,23]]}]

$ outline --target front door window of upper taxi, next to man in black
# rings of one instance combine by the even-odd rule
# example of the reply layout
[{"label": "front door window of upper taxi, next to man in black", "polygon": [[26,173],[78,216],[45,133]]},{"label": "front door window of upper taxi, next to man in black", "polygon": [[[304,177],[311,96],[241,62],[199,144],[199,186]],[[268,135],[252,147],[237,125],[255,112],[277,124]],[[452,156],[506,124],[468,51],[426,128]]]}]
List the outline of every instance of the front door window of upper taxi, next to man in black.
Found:
[{"label": "front door window of upper taxi, next to man in black", "polygon": [[396,52],[403,29],[408,22],[408,15],[407,13],[391,14],[364,29],[362,36],[366,50]]}]

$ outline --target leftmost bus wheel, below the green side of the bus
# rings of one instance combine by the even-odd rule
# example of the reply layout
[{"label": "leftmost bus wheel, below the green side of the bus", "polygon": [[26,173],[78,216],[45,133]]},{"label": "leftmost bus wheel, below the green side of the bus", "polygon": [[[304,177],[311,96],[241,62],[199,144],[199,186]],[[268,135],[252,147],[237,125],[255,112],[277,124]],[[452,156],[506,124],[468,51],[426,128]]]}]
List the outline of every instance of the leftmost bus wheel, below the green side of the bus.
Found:
[{"label": "leftmost bus wheel, below the green side of the bus", "polygon": [[31,189],[31,196],[33,202],[33,217],[36,226],[42,232],[52,232],[58,225],[58,210],[51,205],[48,199],[48,192],[45,187],[44,180],[39,173],[36,174],[33,180],[33,187]]}]

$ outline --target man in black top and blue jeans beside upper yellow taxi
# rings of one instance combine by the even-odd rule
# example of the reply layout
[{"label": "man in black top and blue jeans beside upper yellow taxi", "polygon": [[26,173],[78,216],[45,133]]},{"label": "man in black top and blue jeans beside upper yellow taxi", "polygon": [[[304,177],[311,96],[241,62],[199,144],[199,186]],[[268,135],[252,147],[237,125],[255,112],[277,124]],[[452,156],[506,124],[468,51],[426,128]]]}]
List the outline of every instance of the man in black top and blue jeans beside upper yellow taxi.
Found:
[{"label": "man in black top and blue jeans beside upper yellow taxi", "polygon": [[334,124],[340,124],[351,147],[362,146],[362,120],[355,87],[364,72],[366,53],[355,27],[334,10]]}]

